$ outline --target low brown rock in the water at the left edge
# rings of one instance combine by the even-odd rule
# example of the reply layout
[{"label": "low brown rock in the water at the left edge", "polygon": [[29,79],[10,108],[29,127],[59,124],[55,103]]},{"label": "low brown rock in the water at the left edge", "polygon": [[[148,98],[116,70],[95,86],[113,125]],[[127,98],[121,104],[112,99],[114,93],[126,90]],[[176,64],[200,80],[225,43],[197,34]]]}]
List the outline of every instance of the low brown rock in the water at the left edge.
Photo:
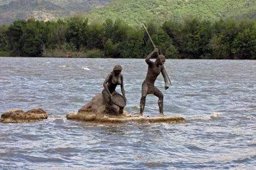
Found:
[{"label": "low brown rock in the water at the left edge", "polygon": [[2,123],[26,123],[47,119],[47,113],[41,108],[34,108],[24,112],[23,110],[9,110],[1,115]]}]

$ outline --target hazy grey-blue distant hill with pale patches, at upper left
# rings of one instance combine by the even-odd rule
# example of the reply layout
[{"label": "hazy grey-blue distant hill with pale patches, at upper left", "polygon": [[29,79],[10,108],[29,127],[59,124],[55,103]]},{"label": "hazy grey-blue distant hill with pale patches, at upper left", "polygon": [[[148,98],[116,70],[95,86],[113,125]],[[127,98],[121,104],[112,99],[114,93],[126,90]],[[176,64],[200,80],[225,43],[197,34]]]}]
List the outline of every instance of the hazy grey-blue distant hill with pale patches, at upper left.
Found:
[{"label": "hazy grey-blue distant hill with pale patches, at upper left", "polygon": [[113,0],[0,0],[0,23],[36,18],[53,20],[105,6]]}]

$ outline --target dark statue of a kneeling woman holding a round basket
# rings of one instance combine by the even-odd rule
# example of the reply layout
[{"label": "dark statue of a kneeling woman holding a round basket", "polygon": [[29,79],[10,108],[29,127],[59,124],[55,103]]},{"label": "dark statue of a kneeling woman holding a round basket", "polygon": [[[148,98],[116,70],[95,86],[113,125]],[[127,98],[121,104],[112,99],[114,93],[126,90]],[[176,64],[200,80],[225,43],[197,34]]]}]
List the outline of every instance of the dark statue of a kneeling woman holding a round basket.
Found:
[{"label": "dark statue of a kneeling woman holding a round basket", "polygon": [[[124,106],[126,105],[126,94],[124,91],[124,82],[121,71],[122,66],[115,65],[113,71],[108,74],[103,83],[104,89],[102,91],[102,94],[106,103],[106,113],[116,115],[118,113],[122,114],[124,111]],[[117,85],[121,86],[122,96],[121,94],[116,92]]]}]

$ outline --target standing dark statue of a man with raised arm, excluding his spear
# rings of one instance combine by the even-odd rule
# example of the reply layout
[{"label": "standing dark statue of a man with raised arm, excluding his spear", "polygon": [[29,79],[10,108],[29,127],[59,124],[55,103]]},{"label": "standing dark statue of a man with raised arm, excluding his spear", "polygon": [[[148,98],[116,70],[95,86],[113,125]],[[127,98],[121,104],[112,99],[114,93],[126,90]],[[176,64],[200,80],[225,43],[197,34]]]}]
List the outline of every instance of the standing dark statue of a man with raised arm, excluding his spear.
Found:
[{"label": "standing dark statue of a man with raised arm, excluding his spear", "polygon": [[142,83],[142,98],[140,99],[140,115],[141,116],[143,115],[146,97],[148,94],[154,94],[156,95],[156,97],[158,97],[158,106],[159,106],[160,116],[164,116],[163,115],[163,94],[158,88],[154,86],[154,83],[156,81],[157,76],[160,75],[160,72],[164,77],[164,83],[165,83],[164,89],[169,88],[169,83],[168,83],[168,76],[163,67],[163,64],[165,62],[164,55],[158,55],[155,62],[152,62],[150,60],[152,55],[155,53],[158,54],[157,48],[155,48],[154,51],[148,54],[145,59],[145,62],[148,64],[148,71],[147,71],[146,79]]}]

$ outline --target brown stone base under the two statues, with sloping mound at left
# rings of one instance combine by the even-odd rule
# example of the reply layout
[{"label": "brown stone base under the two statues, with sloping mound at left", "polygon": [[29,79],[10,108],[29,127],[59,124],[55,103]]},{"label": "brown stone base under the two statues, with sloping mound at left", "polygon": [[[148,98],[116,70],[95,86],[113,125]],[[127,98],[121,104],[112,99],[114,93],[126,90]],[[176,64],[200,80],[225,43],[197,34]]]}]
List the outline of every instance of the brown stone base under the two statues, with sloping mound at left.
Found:
[{"label": "brown stone base under the two statues, with sloping mound at left", "polygon": [[126,123],[126,122],[150,122],[150,123],[185,123],[186,119],[180,116],[156,116],[145,117],[138,114],[132,115],[124,110],[119,115],[111,115],[105,111],[105,100],[102,94],[95,95],[90,102],[84,105],[77,113],[68,113],[67,119],[90,121],[94,123]]}]

